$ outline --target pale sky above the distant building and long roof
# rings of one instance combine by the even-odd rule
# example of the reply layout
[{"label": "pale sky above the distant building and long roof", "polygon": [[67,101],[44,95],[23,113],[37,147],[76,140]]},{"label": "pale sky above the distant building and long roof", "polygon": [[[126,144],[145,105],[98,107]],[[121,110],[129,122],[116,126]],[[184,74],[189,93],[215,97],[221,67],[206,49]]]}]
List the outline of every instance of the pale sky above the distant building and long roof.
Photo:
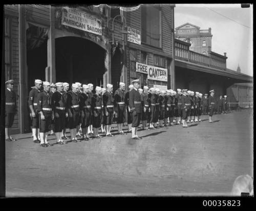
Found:
[{"label": "pale sky above the distant building and long roof", "polygon": [[227,53],[227,68],[237,70],[239,64],[241,73],[252,76],[252,10],[252,5],[241,8],[241,4],[176,4],[175,28],[186,22],[201,30],[211,28],[211,50],[220,55]]}]

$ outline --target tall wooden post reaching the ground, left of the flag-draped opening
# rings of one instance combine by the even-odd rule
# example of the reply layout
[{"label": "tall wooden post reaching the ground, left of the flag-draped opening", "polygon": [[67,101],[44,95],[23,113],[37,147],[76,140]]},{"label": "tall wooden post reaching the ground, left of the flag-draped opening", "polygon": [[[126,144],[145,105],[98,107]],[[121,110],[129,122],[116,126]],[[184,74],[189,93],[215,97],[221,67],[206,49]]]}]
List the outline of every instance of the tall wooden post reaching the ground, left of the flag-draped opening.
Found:
[{"label": "tall wooden post reaching the ground, left of the flag-draped opening", "polygon": [[25,5],[18,5],[18,34],[19,34],[19,128],[20,133],[29,130],[29,114],[27,102],[28,68],[27,68],[27,42],[26,42],[26,14]]}]

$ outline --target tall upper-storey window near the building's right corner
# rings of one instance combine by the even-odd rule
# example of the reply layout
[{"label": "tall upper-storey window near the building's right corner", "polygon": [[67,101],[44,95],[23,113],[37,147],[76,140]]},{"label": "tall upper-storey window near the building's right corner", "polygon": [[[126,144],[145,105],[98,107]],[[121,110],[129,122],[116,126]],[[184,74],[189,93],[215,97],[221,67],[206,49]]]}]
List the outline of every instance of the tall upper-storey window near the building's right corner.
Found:
[{"label": "tall upper-storey window near the building's right corner", "polygon": [[160,7],[141,7],[141,41],[155,47],[160,47]]}]

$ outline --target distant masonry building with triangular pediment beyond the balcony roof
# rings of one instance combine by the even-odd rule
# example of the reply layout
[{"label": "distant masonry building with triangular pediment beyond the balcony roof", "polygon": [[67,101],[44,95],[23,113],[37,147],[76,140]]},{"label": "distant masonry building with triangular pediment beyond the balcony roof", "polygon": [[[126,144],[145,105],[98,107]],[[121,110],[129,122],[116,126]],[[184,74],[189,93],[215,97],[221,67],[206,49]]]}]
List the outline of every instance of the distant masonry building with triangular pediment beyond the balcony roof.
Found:
[{"label": "distant masonry building with triangular pediment beyond the balcony roof", "polygon": [[211,28],[200,30],[200,27],[196,25],[185,23],[175,28],[175,30],[175,38],[190,43],[190,50],[208,55],[208,47],[211,47]]}]

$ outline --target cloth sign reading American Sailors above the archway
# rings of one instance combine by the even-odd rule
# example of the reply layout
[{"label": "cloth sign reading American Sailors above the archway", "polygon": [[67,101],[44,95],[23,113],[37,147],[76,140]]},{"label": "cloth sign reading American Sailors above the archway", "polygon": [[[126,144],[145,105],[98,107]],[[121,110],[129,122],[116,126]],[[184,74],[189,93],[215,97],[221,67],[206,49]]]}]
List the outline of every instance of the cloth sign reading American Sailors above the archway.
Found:
[{"label": "cloth sign reading American Sailors above the archway", "polygon": [[101,20],[95,15],[76,8],[62,8],[61,24],[96,35],[102,35]]}]

